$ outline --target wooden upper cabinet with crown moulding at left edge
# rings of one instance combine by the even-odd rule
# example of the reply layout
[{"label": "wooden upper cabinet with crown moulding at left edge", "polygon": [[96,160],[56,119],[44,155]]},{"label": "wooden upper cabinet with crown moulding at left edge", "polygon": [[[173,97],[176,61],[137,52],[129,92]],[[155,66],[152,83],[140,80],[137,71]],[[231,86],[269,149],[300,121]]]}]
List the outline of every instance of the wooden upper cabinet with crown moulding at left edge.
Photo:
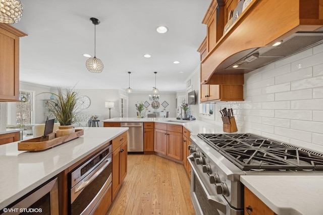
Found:
[{"label": "wooden upper cabinet with crown moulding at left edge", "polygon": [[0,23],[0,102],[19,101],[19,38],[27,34]]}]

